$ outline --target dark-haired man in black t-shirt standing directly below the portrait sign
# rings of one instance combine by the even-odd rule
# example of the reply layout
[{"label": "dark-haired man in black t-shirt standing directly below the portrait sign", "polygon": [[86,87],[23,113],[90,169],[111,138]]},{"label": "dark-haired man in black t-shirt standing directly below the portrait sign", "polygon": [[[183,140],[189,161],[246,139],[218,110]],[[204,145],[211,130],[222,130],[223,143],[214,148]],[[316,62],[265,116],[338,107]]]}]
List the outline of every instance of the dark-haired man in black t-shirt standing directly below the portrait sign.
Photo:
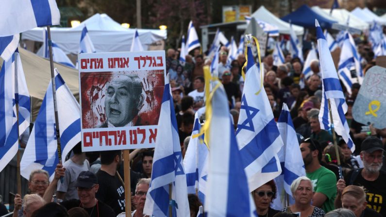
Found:
[{"label": "dark-haired man in black t-shirt standing directly below the portrait sign", "polygon": [[125,211],[125,190],[117,176],[121,164],[121,150],[101,151],[101,169],[96,174],[99,184],[96,198],[113,208],[116,215]]}]

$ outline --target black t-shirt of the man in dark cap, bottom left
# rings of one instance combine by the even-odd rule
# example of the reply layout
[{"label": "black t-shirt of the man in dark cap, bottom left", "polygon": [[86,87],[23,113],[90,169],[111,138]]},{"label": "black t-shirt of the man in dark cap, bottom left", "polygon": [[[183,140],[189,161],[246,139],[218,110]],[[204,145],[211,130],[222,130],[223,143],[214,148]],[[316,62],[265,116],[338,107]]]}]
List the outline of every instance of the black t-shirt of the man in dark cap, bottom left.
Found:
[{"label": "black t-shirt of the man in dark cap, bottom left", "polygon": [[[60,203],[62,206],[64,206],[67,210],[74,208],[74,207],[82,207],[81,201],[72,199],[63,201]],[[116,217],[114,210],[106,205],[104,202],[98,200],[97,204],[94,207],[91,208],[84,208],[85,211],[87,211],[88,215],[90,217]]]}]

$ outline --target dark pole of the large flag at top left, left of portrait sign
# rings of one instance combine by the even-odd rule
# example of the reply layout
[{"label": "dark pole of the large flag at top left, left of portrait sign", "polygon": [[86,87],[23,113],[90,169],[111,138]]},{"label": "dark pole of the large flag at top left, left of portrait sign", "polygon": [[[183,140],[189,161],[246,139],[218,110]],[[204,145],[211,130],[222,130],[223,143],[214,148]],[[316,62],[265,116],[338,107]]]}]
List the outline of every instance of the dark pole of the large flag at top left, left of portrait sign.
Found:
[{"label": "dark pole of the large flag at top left, left of portrait sign", "polygon": [[[56,103],[56,85],[55,85],[55,73],[53,71],[53,59],[52,59],[52,41],[50,26],[47,26],[48,33],[48,49],[50,51],[50,69],[51,69],[51,83],[52,83],[52,96],[53,96],[53,108],[55,111],[55,127],[56,127],[56,141],[58,144],[58,158],[59,164],[62,164],[62,149],[60,145],[60,130],[59,130],[59,117],[58,117],[58,105]],[[60,182],[63,183],[63,177],[60,177]]]}]

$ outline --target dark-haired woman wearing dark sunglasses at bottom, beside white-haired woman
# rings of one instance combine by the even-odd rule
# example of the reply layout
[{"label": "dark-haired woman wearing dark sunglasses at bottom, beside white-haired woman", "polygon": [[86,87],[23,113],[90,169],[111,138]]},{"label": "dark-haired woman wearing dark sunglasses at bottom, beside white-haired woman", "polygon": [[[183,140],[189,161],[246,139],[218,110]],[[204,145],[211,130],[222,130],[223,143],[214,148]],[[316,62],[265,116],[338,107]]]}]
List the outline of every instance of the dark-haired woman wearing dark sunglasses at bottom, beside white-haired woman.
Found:
[{"label": "dark-haired woman wearing dark sunglasses at bottom, beside white-haired woman", "polygon": [[276,213],[280,212],[269,207],[276,198],[276,192],[276,184],[273,180],[261,185],[252,192],[259,217],[273,217]]}]

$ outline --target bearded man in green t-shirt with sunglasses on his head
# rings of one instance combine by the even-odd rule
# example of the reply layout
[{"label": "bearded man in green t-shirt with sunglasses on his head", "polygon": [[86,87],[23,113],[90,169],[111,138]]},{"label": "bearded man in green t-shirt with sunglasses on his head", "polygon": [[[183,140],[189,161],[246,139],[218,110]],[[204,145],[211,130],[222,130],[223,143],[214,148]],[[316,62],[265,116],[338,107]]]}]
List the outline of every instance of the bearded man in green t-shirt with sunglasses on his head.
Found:
[{"label": "bearded man in green t-shirt with sunglasses on his head", "polygon": [[328,213],[334,210],[336,176],[334,172],[320,165],[322,151],[317,140],[307,138],[300,144],[306,176],[314,186],[312,205]]}]

